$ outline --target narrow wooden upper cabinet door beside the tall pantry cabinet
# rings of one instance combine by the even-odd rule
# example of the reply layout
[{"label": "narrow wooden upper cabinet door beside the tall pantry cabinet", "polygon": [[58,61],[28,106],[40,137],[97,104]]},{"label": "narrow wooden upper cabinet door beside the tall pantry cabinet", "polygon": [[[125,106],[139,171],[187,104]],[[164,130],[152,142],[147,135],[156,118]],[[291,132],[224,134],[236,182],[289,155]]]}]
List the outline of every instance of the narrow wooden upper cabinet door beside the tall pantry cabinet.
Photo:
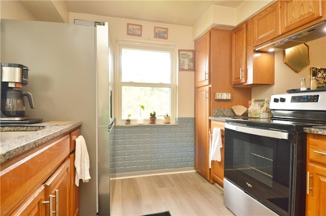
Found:
[{"label": "narrow wooden upper cabinet door beside the tall pantry cabinet", "polygon": [[247,81],[247,22],[232,31],[232,85]]}]

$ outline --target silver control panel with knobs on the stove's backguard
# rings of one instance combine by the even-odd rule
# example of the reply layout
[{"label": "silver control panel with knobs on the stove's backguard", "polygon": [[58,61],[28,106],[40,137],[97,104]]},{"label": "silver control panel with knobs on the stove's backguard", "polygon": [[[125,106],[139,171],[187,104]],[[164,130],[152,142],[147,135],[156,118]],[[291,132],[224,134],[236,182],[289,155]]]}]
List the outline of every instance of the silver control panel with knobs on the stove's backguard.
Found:
[{"label": "silver control panel with knobs on the stove's backguard", "polygon": [[272,95],[269,109],[326,110],[326,91],[295,92]]}]

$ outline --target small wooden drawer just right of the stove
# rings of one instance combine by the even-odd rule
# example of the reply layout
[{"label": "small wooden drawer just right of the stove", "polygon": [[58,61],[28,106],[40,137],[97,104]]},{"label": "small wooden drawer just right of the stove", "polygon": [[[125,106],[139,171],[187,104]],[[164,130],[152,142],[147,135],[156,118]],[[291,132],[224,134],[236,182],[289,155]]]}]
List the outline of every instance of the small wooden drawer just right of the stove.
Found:
[{"label": "small wooden drawer just right of the stove", "polygon": [[326,136],[308,134],[309,159],[326,165]]}]

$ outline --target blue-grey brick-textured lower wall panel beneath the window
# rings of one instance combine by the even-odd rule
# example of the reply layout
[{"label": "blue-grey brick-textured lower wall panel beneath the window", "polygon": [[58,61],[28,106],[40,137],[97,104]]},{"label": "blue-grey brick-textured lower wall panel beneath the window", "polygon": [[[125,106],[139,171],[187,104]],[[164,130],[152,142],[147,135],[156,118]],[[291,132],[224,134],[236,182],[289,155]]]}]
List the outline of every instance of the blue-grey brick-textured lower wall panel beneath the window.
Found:
[{"label": "blue-grey brick-textured lower wall panel beneath the window", "polygon": [[110,133],[111,173],[194,167],[194,118],[177,122],[115,127]]}]

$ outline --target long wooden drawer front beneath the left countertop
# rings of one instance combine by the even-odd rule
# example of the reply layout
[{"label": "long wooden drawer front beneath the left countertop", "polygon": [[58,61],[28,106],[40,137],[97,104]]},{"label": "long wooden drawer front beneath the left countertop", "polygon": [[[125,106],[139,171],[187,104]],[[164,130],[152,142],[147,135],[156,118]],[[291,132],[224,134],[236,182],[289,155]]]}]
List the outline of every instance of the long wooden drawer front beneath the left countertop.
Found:
[{"label": "long wooden drawer front beneath the left countertop", "polygon": [[1,215],[10,214],[68,158],[69,135],[1,170]]}]

